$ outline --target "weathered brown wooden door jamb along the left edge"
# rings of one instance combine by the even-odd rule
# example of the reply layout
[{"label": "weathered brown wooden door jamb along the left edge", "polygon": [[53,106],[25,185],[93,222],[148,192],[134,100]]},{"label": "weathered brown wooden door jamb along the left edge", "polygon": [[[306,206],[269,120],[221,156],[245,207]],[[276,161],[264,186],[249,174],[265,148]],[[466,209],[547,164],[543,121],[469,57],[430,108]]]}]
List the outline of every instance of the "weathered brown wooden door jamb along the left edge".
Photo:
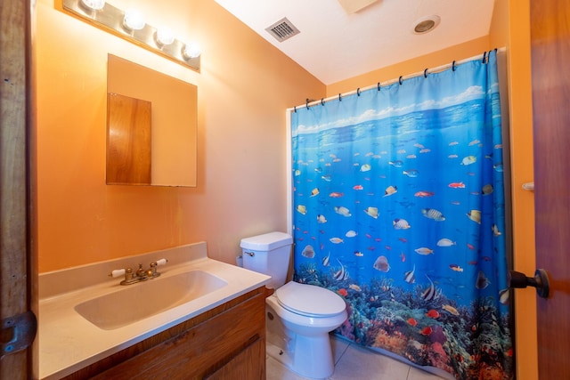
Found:
[{"label": "weathered brown wooden door jamb along the left edge", "polygon": [[[0,378],[31,378],[31,350],[15,340],[29,315],[28,0],[0,6]],[[16,322],[15,322],[16,321]],[[19,327],[16,327],[19,328]],[[34,329],[35,331],[35,329]],[[8,354],[10,353],[10,354]]]}]

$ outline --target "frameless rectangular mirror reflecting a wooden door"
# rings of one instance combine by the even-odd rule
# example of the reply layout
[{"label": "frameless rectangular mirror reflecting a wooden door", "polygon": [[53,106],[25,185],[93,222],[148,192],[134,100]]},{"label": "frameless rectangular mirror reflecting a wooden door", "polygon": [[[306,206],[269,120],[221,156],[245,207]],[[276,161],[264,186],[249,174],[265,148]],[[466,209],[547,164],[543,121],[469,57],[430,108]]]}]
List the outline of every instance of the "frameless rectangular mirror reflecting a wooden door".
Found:
[{"label": "frameless rectangular mirror reflecting a wooden door", "polygon": [[198,89],[109,54],[106,183],[196,186]]}]

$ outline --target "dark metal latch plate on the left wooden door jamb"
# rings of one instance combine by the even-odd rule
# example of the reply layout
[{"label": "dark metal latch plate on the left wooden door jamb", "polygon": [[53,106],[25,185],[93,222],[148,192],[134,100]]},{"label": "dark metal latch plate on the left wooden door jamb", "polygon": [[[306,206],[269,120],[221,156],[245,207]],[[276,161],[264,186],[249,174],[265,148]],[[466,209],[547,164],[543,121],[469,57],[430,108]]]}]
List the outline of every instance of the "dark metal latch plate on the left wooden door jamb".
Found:
[{"label": "dark metal latch plate on the left wooden door jamb", "polygon": [[0,359],[5,355],[20,352],[28,348],[36,337],[37,319],[32,311],[23,312],[2,319],[0,330]]}]

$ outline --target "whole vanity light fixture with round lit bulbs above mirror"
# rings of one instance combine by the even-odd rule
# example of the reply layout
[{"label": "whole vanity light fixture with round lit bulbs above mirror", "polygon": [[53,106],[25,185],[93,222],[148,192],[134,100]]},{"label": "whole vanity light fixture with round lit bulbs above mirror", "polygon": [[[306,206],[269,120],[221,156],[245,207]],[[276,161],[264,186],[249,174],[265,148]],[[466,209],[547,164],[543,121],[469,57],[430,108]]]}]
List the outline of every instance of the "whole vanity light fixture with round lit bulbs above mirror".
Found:
[{"label": "whole vanity light fixture with round lit bulbs above mirror", "polygon": [[62,5],[63,12],[69,12],[79,20],[199,71],[199,45],[175,38],[169,28],[152,27],[139,11],[127,9],[124,12],[105,0],[63,0]]}]

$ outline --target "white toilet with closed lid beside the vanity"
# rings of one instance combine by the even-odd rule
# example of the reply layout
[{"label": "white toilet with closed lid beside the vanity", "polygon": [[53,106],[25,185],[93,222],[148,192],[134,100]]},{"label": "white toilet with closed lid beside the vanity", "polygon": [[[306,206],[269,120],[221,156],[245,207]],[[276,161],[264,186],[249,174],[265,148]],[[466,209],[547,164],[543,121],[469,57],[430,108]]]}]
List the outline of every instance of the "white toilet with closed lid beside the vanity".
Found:
[{"label": "white toilet with closed lid beside the vanity", "polygon": [[275,292],[265,300],[267,353],[297,375],[323,379],[334,372],[329,333],[346,320],[346,303],[324,287],[285,284],[292,243],[283,232],[241,239],[243,267],[272,277],[267,287]]}]

